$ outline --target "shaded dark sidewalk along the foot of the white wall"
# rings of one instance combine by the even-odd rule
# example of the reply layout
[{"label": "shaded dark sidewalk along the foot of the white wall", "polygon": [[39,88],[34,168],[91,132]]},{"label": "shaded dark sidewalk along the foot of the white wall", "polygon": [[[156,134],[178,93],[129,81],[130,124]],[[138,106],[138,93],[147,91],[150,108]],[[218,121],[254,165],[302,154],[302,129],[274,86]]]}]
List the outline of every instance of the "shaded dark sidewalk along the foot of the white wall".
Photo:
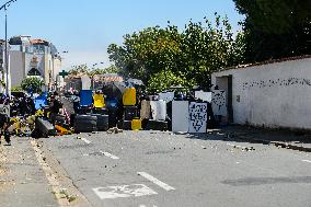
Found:
[{"label": "shaded dark sidewalk along the foot of the white wall", "polygon": [[275,145],[277,147],[311,152],[311,134],[286,129],[263,129],[249,126],[229,126],[221,128],[228,138]]}]

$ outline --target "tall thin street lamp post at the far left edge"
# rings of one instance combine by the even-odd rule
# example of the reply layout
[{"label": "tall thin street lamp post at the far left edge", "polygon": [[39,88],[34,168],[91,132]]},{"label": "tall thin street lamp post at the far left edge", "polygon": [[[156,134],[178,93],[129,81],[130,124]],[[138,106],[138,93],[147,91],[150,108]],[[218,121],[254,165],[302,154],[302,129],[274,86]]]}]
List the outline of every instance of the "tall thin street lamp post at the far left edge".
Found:
[{"label": "tall thin street lamp post at the far left edge", "polygon": [[7,9],[11,5],[12,2],[15,2],[18,0],[10,0],[5,2],[3,5],[1,5],[0,11],[4,10],[5,12],[5,46],[4,46],[4,61],[5,61],[5,94],[9,94],[9,51],[8,51],[8,14]]}]

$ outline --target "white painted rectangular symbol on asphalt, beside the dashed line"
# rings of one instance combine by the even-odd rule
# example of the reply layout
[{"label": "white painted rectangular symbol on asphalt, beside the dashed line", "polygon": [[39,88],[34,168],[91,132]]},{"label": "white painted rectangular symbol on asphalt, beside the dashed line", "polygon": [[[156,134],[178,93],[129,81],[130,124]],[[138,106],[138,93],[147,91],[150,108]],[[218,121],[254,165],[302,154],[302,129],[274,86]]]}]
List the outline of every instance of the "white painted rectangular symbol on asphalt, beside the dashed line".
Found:
[{"label": "white painted rectangular symbol on asphalt, beside the dashed line", "polygon": [[93,188],[93,191],[101,199],[140,197],[158,194],[157,192],[143,184],[97,187]]}]

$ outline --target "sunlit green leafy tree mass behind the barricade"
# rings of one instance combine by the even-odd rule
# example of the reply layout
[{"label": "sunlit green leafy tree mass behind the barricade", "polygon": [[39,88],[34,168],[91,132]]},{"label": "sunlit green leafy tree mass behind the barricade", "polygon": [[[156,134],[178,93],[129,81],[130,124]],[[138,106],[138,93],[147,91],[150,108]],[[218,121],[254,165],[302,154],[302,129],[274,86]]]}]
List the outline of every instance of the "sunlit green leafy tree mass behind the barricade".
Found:
[{"label": "sunlit green leafy tree mass behind the barricade", "polygon": [[127,34],[123,45],[112,44],[107,51],[124,76],[143,80],[153,91],[175,82],[209,88],[212,71],[243,62],[243,43],[228,18],[216,14],[215,23],[189,21],[183,31],[169,22]]}]

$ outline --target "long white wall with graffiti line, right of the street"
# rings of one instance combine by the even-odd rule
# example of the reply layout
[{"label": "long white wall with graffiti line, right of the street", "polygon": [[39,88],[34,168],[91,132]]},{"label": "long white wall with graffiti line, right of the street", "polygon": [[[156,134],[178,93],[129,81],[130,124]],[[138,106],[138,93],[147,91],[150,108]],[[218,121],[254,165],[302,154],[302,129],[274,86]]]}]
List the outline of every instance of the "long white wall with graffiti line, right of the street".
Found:
[{"label": "long white wall with graffiti line, right of the street", "polygon": [[216,72],[212,84],[229,74],[234,123],[311,129],[311,58]]}]

